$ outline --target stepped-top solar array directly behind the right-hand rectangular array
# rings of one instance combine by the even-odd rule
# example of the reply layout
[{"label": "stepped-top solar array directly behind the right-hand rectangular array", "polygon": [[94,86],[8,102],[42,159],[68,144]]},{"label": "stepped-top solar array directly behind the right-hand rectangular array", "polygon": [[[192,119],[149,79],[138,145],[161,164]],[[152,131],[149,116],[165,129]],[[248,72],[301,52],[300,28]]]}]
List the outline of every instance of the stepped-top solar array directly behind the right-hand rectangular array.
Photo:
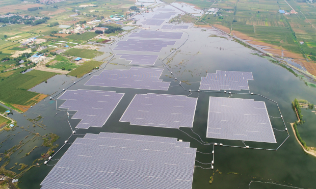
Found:
[{"label": "stepped-top solar array directly behind the right-hand rectangular array", "polygon": [[251,72],[240,71],[216,71],[207,73],[206,77],[201,78],[201,90],[249,90],[248,80],[253,80]]}]

